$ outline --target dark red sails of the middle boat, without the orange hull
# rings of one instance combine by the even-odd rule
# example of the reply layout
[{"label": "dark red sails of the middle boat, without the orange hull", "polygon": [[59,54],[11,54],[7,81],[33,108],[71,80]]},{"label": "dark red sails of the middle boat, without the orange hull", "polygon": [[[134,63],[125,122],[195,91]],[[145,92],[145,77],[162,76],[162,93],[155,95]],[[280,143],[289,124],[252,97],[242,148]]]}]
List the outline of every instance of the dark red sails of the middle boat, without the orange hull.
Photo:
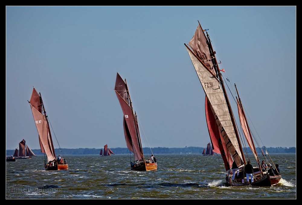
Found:
[{"label": "dark red sails of the middle boat, without the orange hull", "polygon": [[143,159],[136,130],[136,120],[134,118],[132,107],[129,105],[129,96],[124,80],[117,73],[115,88],[116,96],[124,113],[124,134],[128,149],[133,152],[134,160]]}]

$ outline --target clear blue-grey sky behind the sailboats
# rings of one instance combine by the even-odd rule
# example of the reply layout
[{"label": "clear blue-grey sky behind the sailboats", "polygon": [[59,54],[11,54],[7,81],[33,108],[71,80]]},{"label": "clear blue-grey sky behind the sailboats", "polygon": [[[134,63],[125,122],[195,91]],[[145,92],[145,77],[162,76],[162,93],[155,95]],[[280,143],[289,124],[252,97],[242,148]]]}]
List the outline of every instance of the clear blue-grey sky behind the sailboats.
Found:
[{"label": "clear blue-grey sky behind the sailboats", "polygon": [[7,6],[6,149],[22,139],[40,147],[27,102],[33,87],[61,148],[126,147],[117,72],[149,142],[143,147],[206,147],[205,94],[184,45],[198,20],[260,145],[296,147],[294,6]]}]

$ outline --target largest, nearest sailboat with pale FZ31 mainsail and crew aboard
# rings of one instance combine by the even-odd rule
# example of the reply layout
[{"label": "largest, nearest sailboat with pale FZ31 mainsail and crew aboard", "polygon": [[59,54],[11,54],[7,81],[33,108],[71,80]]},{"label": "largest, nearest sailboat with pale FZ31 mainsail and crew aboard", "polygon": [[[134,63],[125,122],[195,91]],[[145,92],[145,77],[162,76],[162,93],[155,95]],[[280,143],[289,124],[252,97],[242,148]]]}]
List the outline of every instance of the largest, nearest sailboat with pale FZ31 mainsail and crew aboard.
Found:
[{"label": "largest, nearest sailboat with pale FZ31 mainsail and crew aboard", "polygon": [[[273,176],[270,176],[266,171],[262,170],[239,98],[239,100],[237,99],[237,105],[241,127],[257,163],[257,167],[253,167],[253,182],[249,183],[249,180],[246,180],[244,168],[247,162],[239,139],[233,112],[215,58],[216,52],[212,48],[208,33],[206,32],[206,36],[204,31],[199,24],[193,38],[188,43],[191,49],[186,44],[185,46],[206,95],[205,110],[209,135],[214,152],[221,154],[223,158],[227,171],[226,184],[230,186],[271,186],[278,184],[281,179],[279,173],[273,173]],[[268,163],[267,159],[266,163]],[[231,171],[234,164],[236,164],[240,171],[237,176]],[[236,177],[232,180],[233,174]]]}]

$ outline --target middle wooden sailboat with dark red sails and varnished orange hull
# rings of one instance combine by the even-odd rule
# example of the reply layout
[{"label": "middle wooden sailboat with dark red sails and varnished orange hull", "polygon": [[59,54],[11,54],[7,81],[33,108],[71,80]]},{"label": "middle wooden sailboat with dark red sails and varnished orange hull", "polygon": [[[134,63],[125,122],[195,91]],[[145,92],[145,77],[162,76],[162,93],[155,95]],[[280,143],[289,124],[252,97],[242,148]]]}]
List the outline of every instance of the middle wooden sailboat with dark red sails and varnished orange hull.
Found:
[{"label": "middle wooden sailboat with dark red sails and varnished orange hull", "polygon": [[115,81],[115,93],[124,113],[124,134],[128,149],[133,153],[134,162],[130,169],[134,171],[157,170],[157,163],[144,158],[143,147],[140,140],[140,131],[137,123],[136,112],[133,112],[132,102],[125,81],[117,73]]}]

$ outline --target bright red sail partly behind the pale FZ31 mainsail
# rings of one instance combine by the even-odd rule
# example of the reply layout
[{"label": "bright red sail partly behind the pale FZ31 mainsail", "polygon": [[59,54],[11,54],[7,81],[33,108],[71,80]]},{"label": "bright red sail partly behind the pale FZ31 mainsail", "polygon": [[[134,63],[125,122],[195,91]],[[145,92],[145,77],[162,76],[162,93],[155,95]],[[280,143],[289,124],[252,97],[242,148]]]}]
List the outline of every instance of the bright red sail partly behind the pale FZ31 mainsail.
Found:
[{"label": "bright red sail partly behind the pale FZ31 mainsail", "polygon": [[207,118],[207,127],[209,131],[209,135],[211,138],[211,142],[214,146],[214,152],[217,154],[221,154],[224,166],[226,168],[226,171],[230,169],[230,165],[233,164],[233,159],[230,155],[229,150],[226,147],[225,141],[223,140],[223,137],[220,134],[219,128],[217,126],[217,123],[215,121],[213,112],[210,108],[209,101],[205,99],[205,109],[206,109],[206,118]]}]

